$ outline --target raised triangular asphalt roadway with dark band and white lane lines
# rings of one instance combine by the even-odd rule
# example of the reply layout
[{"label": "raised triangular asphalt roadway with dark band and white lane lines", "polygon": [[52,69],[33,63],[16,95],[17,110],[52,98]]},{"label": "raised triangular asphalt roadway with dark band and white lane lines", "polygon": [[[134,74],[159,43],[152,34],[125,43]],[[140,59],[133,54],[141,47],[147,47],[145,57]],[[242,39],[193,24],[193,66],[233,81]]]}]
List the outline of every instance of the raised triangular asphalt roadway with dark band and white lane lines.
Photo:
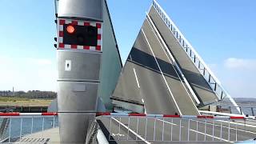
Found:
[{"label": "raised triangular asphalt roadway with dark band and white lane lines", "polygon": [[113,96],[144,104],[147,114],[199,114],[147,20],[134,42]]}]

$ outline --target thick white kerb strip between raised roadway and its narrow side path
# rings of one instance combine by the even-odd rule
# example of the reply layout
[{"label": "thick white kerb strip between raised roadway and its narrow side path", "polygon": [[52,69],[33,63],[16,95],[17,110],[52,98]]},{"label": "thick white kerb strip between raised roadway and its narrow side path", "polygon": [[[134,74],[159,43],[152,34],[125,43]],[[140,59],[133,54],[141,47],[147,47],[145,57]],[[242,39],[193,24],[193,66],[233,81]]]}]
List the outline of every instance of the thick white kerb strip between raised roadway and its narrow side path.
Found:
[{"label": "thick white kerb strip between raised roadway and its narrow side path", "polygon": [[[166,54],[166,51],[168,52],[168,54],[170,55],[170,58],[172,59],[172,62],[170,61],[170,58],[169,58],[168,55],[166,54],[167,58],[169,59],[169,61],[170,61],[171,63],[174,63],[174,65],[177,66],[178,72],[182,75],[182,79],[184,80],[184,82],[186,83],[186,86],[187,86],[188,89],[190,90],[190,93],[191,93],[192,96],[194,97],[195,102],[197,102],[197,103],[199,104],[200,101],[199,101],[198,97],[196,96],[196,94],[194,94],[194,90],[192,90],[192,88],[191,88],[189,82],[187,82],[185,75],[182,73],[182,70],[179,68],[177,62],[175,61],[174,56],[170,53],[170,50],[168,49],[168,46],[166,46],[166,42],[163,41],[162,36],[159,34],[157,28],[154,26],[154,23],[152,22],[150,16],[149,16],[147,13],[146,13],[146,16],[147,16],[146,20],[147,20],[148,22],[149,22],[149,20],[150,20],[149,23],[152,23],[152,26],[154,27],[154,30],[155,30],[155,32],[158,34],[158,37],[161,39],[161,42],[162,42],[162,43],[160,42],[160,40],[158,39],[157,35],[155,34],[155,32],[154,32],[154,30],[153,30],[153,27],[150,25],[151,29],[152,29],[153,32],[154,32],[154,35],[155,35],[155,36],[157,37],[157,39],[158,39],[158,42],[160,43],[161,46],[162,46],[162,44],[164,45],[164,46],[162,46],[162,50],[165,52],[165,54]],[[149,19],[149,20],[148,20],[148,19]],[[164,50],[164,47],[165,47],[166,50]],[[174,68],[174,70],[175,70],[175,72],[177,73],[177,71],[176,71],[175,68]],[[178,73],[177,73],[177,74],[178,74]],[[179,75],[178,75],[178,78],[180,78]],[[181,78],[180,78],[180,79],[181,79]],[[183,82],[182,82],[182,85],[184,86]],[[184,86],[184,87],[185,87],[185,86]],[[185,89],[186,89],[186,88],[185,88]],[[188,93],[187,90],[186,90],[186,92]],[[189,93],[188,93],[188,94],[189,94]],[[191,99],[191,101],[193,102],[192,99]],[[194,103],[194,102],[193,102],[193,103]],[[194,106],[195,106],[195,105],[194,105]],[[200,114],[200,113],[198,112],[198,114]]]}]

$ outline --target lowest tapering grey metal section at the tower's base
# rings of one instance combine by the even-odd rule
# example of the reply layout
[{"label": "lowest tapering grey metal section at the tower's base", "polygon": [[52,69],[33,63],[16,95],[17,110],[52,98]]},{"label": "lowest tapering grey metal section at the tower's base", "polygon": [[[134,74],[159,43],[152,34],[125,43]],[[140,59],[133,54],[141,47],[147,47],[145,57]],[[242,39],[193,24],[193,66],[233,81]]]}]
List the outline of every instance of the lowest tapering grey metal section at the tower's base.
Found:
[{"label": "lowest tapering grey metal section at the tower's base", "polygon": [[61,142],[85,143],[94,117],[94,114],[58,114]]}]

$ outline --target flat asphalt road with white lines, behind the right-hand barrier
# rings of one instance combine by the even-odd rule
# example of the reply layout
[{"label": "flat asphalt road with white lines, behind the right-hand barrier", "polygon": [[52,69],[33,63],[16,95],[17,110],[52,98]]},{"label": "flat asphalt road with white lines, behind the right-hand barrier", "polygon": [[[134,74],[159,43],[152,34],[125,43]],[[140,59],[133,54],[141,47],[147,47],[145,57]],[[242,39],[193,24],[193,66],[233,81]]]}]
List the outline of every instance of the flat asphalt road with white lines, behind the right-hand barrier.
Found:
[{"label": "flat asphalt road with white lines, behind the right-hand barrier", "polygon": [[236,129],[231,125],[229,129],[210,119],[206,122],[180,118],[97,119],[110,143],[233,143],[256,137],[254,132]]}]

